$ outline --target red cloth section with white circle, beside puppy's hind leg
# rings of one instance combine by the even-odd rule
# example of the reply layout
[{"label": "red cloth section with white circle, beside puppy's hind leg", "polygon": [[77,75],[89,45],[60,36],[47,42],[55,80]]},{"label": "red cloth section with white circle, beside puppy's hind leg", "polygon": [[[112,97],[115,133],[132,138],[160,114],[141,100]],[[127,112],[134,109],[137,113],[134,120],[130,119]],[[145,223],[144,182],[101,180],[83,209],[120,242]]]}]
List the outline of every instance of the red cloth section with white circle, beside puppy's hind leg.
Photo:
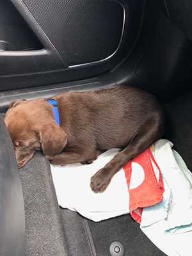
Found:
[{"label": "red cloth section with white circle, beside puppy's hind leg", "polygon": [[[157,168],[159,179],[154,172]],[[142,154],[134,157],[124,166],[125,177],[129,189],[129,209],[132,218],[141,223],[143,207],[155,205],[163,199],[163,177],[159,166],[152,155],[150,147]],[[135,188],[134,180],[140,180],[140,184]]]}]

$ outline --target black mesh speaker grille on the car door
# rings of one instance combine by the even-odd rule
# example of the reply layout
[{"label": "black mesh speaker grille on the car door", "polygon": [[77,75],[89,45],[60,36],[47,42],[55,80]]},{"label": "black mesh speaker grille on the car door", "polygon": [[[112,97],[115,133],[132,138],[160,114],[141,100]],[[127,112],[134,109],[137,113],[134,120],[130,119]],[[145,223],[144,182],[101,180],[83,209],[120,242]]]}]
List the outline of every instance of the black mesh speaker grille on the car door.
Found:
[{"label": "black mesh speaker grille on the car door", "polygon": [[68,65],[104,60],[120,44],[124,10],[110,0],[23,0]]}]

